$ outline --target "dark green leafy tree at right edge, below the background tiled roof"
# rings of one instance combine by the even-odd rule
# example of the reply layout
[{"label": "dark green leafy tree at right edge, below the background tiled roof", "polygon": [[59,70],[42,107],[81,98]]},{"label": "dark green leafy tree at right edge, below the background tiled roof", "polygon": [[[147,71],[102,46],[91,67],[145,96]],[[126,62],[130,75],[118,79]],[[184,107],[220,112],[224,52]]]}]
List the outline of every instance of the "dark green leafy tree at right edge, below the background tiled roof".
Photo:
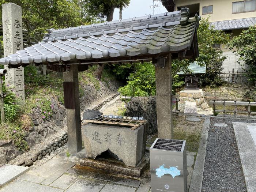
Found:
[{"label": "dark green leafy tree at right edge, below the background tiled roof", "polygon": [[243,30],[242,33],[233,37],[227,44],[229,50],[233,50],[237,56],[238,64],[245,68],[248,72],[246,76],[249,82],[256,81],[256,25],[251,26],[248,30]]}]

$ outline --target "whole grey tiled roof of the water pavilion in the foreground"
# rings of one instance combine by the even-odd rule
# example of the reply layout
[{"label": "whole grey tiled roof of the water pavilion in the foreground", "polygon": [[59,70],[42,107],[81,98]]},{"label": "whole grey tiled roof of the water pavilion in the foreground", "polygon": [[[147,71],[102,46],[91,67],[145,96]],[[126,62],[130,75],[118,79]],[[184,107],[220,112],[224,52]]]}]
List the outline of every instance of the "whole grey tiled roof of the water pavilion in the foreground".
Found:
[{"label": "whole grey tiled roof of the water pavilion in the foreground", "polygon": [[48,65],[128,63],[199,56],[196,28],[200,17],[189,9],[117,21],[50,29],[42,42],[0,59],[16,68],[31,63]]}]

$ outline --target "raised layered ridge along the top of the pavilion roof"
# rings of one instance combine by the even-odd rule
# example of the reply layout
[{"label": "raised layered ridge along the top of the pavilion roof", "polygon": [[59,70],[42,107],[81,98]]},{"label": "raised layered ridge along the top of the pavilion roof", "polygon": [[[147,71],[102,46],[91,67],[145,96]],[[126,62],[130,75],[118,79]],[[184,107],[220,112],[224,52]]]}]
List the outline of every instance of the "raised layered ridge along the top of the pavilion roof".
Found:
[{"label": "raised layered ridge along the top of the pavilion roof", "polygon": [[166,26],[177,25],[181,19],[181,11],[165,12],[163,14],[119,19],[91,25],[68,27],[65,29],[49,29],[42,41],[56,41],[76,37],[87,37],[90,35],[102,35],[108,33],[125,32],[130,30],[141,30],[145,28],[160,27],[162,23]]}]

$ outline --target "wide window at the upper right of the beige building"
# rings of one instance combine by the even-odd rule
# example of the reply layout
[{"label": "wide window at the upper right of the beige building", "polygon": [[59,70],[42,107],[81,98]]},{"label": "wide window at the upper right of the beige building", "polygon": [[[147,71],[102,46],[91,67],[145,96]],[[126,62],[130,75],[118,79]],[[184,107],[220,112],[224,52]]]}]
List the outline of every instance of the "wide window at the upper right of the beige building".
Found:
[{"label": "wide window at the upper right of the beige building", "polygon": [[256,0],[238,1],[232,3],[232,13],[256,11]]}]

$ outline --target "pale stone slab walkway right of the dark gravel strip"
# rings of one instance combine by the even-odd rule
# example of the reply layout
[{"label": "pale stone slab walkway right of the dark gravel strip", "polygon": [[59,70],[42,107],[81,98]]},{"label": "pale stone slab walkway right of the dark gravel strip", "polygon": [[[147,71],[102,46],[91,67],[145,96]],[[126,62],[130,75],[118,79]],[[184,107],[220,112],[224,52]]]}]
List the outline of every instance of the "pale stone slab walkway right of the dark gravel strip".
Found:
[{"label": "pale stone slab walkway right of the dark gravel strip", "polygon": [[256,124],[233,122],[237,147],[245,176],[245,184],[248,192],[256,190]]}]

